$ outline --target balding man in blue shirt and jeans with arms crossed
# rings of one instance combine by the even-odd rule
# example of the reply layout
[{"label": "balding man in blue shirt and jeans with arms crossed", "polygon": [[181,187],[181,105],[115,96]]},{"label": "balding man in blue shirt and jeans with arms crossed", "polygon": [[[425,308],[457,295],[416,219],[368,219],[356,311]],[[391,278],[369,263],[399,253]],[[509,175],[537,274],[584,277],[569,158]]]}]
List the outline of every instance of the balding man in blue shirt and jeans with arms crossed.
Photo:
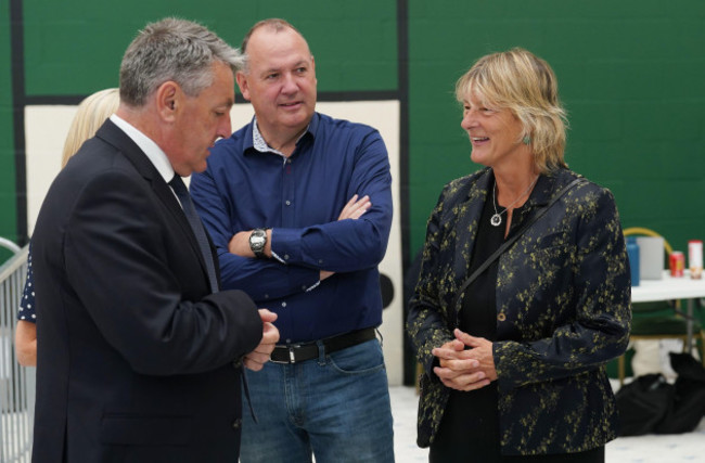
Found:
[{"label": "balding man in blue shirt and jeans with arms crossed", "polygon": [[371,127],[316,113],[316,66],[282,20],[245,37],[253,121],[211,149],[191,193],[225,288],[277,312],[282,345],[249,374],[258,417],[241,461],[393,462],[377,263],[392,224],[386,147]]}]

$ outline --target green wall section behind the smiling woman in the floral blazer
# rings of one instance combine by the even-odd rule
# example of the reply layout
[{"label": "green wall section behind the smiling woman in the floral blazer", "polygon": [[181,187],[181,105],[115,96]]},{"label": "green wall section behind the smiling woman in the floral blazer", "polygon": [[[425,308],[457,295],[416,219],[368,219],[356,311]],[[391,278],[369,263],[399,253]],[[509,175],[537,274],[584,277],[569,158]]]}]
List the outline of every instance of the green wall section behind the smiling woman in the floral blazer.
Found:
[{"label": "green wall section behind the smiling woman in the floral blazer", "polygon": [[474,171],[454,102],[479,56],[544,57],[568,110],[566,159],[610,188],[625,227],[705,237],[705,2],[409,1],[411,250],[443,185]]}]

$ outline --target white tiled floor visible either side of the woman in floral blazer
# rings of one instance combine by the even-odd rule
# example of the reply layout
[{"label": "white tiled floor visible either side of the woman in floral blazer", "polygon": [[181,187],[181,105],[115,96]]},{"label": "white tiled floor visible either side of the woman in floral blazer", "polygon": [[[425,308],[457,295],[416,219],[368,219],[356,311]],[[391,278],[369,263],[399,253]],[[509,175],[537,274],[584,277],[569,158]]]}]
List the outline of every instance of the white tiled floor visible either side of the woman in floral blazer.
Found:
[{"label": "white tiled floor visible either side of the woman in floral blazer", "polygon": [[[394,449],[397,463],[427,462],[427,449],[416,447],[416,406],[413,387],[390,389]],[[705,419],[689,434],[620,437],[606,447],[607,463],[705,463]]]}]

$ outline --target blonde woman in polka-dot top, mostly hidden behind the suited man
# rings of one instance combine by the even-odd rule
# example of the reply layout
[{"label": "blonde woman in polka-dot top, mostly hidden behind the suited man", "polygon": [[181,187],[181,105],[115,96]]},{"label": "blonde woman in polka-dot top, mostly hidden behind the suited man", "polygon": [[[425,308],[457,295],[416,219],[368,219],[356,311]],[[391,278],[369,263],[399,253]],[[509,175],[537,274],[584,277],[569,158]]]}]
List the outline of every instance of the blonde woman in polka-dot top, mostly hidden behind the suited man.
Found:
[{"label": "blonde woman in polka-dot top, mostly hidden behind the suited man", "polygon": [[[61,167],[76,154],[84,142],[95,134],[119,104],[117,88],[100,90],[80,102],[68,129]],[[17,326],[15,331],[15,351],[17,362],[25,366],[37,364],[37,324],[35,319],[35,290],[31,272],[31,250],[27,257],[27,280],[17,310]]]}]

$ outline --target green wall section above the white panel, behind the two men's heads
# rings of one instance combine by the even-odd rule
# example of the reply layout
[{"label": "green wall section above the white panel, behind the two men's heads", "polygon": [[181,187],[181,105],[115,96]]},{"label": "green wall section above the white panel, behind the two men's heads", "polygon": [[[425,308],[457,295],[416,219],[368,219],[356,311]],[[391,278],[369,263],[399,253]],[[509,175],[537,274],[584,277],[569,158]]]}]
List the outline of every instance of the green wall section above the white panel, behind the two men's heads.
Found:
[{"label": "green wall section above the white panel, behind the two men's heads", "polygon": [[[240,3],[240,5],[239,5]],[[123,0],[24,1],[27,93],[86,94],[117,85],[120,59],[138,29],[175,15],[196,20],[233,46],[257,21],[283,17],[307,37],[319,91],[394,90],[393,1],[242,2]],[[350,38],[355,38],[351,40]],[[369,69],[375,69],[374,73]]]}]

